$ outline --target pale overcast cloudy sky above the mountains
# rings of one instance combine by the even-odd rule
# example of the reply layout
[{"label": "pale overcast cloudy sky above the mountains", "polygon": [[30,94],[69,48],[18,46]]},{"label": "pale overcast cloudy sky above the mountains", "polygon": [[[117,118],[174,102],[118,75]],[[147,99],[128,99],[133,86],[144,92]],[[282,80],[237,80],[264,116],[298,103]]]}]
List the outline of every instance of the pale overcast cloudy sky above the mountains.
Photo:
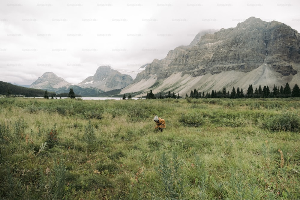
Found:
[{"label": "pale overcast cloudy sky above the mountains", "polygon": [[0,80],[30,85],[51,71],[77,84],[98,66],[137,70],[201,30],[250,16],[300,31],[300,1],[1,0]]}]

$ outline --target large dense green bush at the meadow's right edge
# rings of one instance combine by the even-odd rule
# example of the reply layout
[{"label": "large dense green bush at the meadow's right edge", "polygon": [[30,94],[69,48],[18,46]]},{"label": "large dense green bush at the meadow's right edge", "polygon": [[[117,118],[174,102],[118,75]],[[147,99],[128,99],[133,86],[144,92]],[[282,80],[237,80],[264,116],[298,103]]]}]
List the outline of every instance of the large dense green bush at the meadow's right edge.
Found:
[{"label": "large dense green bush at the meadow's right edge", "polygon": [[268,130],[272,131],[299,131],[300,117],[294,112],[284,112],[280,115],[272,116],[263,124]]}]

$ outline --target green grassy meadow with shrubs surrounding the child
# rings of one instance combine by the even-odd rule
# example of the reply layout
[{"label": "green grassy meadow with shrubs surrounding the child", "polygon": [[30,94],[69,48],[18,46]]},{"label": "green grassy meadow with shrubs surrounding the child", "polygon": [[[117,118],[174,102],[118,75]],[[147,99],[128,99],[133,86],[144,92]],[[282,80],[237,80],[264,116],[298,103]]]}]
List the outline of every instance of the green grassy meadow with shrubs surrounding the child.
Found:
[{"label": "green grassy meadow with shrubs surrounding the child", "polygon": [[299,100],[0,98],[0,199],[300,199]]}]

